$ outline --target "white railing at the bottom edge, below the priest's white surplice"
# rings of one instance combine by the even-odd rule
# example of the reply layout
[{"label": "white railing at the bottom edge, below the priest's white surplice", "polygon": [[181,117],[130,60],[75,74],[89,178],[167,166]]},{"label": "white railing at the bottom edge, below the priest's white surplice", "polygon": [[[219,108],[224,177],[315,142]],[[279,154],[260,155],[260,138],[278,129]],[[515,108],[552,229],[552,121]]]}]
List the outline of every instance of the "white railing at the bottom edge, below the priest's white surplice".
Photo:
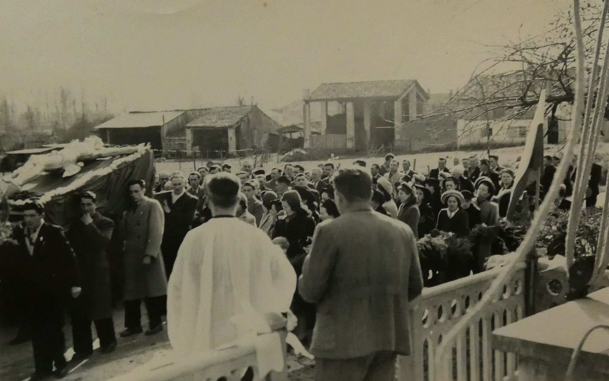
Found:
[{"label": "white railing at the bottom edge, below the priest's white surplice", "polygon": [[[286,333],[280,331],[283,353],[286,353]],[[249,370],[248,370],[249,369]],[[246,372],[253,374],[252,380],[285,381],[283,372],[271,371],[261,376],[258,371],[255,343],[233,346],[210,352],[205,357],[189,357],[180,360],[166,360],[150,368],[138,368],[108,381],[240,381]]]}]

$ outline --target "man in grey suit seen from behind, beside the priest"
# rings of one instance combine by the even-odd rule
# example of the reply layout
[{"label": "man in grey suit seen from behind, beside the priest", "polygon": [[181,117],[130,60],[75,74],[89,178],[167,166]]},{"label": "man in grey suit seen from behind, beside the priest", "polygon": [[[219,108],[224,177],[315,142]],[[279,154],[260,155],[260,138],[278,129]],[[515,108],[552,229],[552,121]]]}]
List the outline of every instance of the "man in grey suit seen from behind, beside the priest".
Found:
[{"label": "man in grey suit seen from behind, beside the priest", "polygon": [[315,380],[392,381],[410,354],[409,302],[423,276],[412,230],[368,205],[371,178],[344,169],[334,179],[340,217],[320,223],[298,291],[317,305]]}]

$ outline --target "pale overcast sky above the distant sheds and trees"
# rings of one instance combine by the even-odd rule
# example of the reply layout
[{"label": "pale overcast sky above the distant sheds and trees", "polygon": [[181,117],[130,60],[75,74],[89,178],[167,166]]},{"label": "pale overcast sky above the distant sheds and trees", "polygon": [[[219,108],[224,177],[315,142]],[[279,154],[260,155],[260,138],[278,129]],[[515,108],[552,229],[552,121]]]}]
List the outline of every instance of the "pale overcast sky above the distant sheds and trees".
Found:
[{"label": "pale overcast sky above the distant sheds and trees", "polygon": [[[547,28],[568,0],[3,0],[0,95],[59,86],[111,111],[300,99],[322,82],[464,85],[487,47]],[[523,27],[521,28],[521,24]]]}]

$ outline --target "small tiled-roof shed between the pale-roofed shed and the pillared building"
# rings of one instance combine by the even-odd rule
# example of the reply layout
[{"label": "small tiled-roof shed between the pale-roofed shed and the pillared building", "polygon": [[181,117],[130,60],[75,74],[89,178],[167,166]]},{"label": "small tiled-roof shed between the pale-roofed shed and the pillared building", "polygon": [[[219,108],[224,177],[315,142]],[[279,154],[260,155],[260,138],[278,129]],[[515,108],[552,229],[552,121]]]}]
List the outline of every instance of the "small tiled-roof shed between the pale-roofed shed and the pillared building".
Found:
[{"label": "small tiled-roof shed between the pale-roofed shed and the pillared building", "polygon": [[267,148],[276,151],[281,125],[256,105],[199,110],[186,124],[186,149],[221,156],[239,150]]}]

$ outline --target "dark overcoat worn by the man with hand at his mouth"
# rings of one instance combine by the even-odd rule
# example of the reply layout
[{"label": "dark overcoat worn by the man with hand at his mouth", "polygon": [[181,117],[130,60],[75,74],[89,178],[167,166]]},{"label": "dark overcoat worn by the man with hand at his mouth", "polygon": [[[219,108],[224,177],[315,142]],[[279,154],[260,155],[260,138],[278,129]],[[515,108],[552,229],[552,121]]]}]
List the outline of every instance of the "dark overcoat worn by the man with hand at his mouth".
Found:
[{"label": "dark overcoat worn by the man with hand at his mouth", "polygon": [[77,220],[66,236],[78,260],[82,293],[72,301],[71,314],[77,320],[101,320],[112,317],[112,286],[107,248],[114,222],[99,213],[93,223]]}]

